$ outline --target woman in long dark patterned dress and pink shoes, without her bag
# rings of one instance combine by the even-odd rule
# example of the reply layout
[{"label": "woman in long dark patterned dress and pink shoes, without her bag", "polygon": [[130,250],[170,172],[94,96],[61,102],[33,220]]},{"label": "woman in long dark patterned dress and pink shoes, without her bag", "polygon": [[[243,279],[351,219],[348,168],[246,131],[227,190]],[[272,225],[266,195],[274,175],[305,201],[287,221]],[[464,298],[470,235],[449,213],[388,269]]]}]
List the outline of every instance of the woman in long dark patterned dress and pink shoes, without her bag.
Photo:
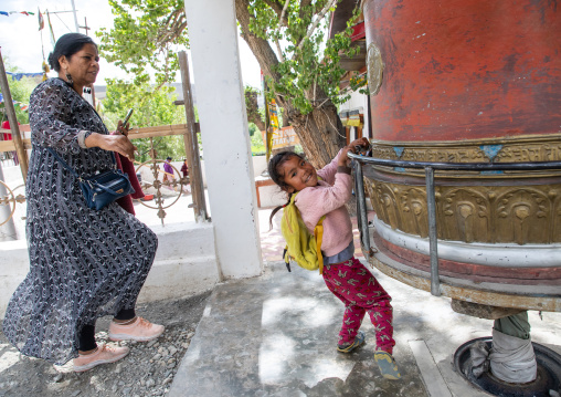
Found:
[{"label": "woman in long dark patterned dress and pink shoes, without her bag", "polygon": [[[134,159],[128,127],[109,134],[82,97],[99,71],[97,45],[64,34],[49,56],[59,77],[30,97],[31,153],[27,180],[30,272],[10,300],[3,331],[24,355],[54,364],[74,358],[76,372],[125,357],[128,347],[97,346],[95,321],[113,315],[109,338],[150,341],[162,325],[137,317],[135,303],[156,254],[156,234],[116,202],[86,206],[81,176],[113,167],[113,152]],[[135,176],[129,176],[135,177]]]}]

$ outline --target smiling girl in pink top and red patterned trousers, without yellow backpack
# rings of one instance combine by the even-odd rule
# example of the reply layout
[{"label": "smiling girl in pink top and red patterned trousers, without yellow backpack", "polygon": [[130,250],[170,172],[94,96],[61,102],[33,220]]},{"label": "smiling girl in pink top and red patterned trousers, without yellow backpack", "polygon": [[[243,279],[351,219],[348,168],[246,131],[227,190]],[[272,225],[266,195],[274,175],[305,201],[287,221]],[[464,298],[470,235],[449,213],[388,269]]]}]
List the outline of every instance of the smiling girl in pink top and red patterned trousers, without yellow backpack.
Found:
[{"label": "smiling girl in pink top and red patterned trousers, without yellow backpack", "polygon": [[[388,379],[399,379],[400,370],[392,357],[395,342],[391,297],[354,258],[352,226],[345,207],[353,185],[347,153],[353,152],[357,146],[368,147],[368,139],[352,142],[319,171],[299,155],[282,152],[271,159],[268,174],[275,184],[288,192],[288,198],[298,192],[295,203],[310,233],[314,233],[319,219],[326,216],[321,241],[322,275],[327,288],[345,304],[337,349],[350,353],[364,342],[364,334],[359,327],[368,312],[375,327],[374,359],[380,372]],[[273,211],[271,220],[280,208]]]}]

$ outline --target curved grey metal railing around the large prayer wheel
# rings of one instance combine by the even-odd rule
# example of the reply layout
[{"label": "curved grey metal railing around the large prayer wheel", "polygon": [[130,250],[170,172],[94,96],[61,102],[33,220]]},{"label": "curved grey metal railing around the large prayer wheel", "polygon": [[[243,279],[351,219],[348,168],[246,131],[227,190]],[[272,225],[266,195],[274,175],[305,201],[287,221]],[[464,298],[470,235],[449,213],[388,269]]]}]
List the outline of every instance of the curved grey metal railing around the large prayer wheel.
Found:
[{"label": "curved grey metal railing around the large prayer wheel", "polygon": [[430,161],[404,161],[388,160],[373,157],[364,157],[349,153],[354,168],[354,191],[357,192],[357,220],[360,231],[362,252],[370,260],[375,252],[370,245],[368,231],[367,201],[364,195],[364,178],[362,165],[424,169],[426,187],[426,211],[428,220],[428,251],[431,258],[431,293],[441,296],[441,281],[438,274],[438,239],[436,228],[436,196],[434,184],[435,170],[447,171],[536,171],[544,169],[561,169],[561,161],[537,163],[430,163]]}]

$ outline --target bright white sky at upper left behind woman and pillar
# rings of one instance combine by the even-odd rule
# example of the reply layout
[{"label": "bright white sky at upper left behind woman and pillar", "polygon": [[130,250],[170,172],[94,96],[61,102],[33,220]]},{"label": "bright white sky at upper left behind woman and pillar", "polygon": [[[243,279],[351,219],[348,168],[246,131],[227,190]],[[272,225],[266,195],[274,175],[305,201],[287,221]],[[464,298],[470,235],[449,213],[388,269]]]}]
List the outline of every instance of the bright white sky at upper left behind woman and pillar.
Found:
[{"label": "bright white sky at upper left behind woman and pillar", "polygon": [[[95,36],[94,32],[100,28],[113,27],[113,14],[108,1],[74,0],[74,4],[78,25],[85,25],[85,20],[87,20],[87,25],[92,28],[88,34],[94,38],[94,41],[98,42],[99,40]],[[49,12],[72,11],[72,0],[0,0],[0,11],[31,11],[35,13],[29,17],[21,13],[10,14],[10,17],[0,14],[0,49],[2,58],[4,63],[17,66],[19,72],[42,72],[42,49],[44,50],[45,60],[53,49],[46,18],[45,29],[42,30],[43,45],[41,44],[38,8],[41,12],[45,10],[49,10]],[[55,38],[76,31],[74,14],[72,12],[51,14],[51,23]],[[80,31],[85,33],[84,29]],[[261,74],[257,61],[242,38],[239,39],[239,43],[244,85],[261,87]],[[190,72],[191,80],[194,80],[197,84],[197,76],[194,76],[192,65],[190,65]],[[55,76],[56,73],[51,72],[49,75]],[[99,61],[99,74],[97,75],[96,85],[105,85],[106,77],[126,79],[127,75],[117,66],[102,59]]]}]

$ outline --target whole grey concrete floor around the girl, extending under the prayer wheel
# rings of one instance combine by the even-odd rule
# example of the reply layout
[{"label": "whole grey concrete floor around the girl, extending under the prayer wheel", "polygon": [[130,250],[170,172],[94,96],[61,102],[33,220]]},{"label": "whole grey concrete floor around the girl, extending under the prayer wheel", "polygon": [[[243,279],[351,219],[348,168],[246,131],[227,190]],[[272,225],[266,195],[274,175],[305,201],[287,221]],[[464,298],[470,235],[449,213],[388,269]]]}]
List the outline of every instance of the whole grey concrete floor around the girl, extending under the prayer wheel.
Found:
[{"label": "whole grey concrete floor around the girl, extending under the prayer wheel", "polygon": [[[493,322],[457,314],[435,297],[372,270],[392,295],[394,357],[402,379],[381,377],[375,338],[366,317],[367,344],[336,351],[343,306],[322,278],[283,262],[261,278],[218,285],[209,299],[169,396],[488,396],[453,367],[465,342],[490,336]],[[561,313],[530,313],[533,342],[561,354]]]}]

